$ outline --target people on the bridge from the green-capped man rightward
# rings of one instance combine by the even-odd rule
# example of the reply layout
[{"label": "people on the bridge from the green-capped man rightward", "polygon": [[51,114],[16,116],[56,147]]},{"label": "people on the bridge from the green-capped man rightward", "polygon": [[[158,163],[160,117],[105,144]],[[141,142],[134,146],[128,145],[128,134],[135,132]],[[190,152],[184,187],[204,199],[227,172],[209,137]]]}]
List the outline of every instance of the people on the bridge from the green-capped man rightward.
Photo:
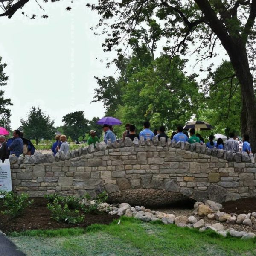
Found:
[{"label": "people on the bridge from the green-capped man rightward", "polygon": [[[164,126],[160,126],[159,129],[151,131],[150,130],[150,123],[149,122],[144,122],[143,124],[143,130],[140,131],[139,134],[136,134],[135,130],[136,127],[135,125],[130,125],[130,124],[126,124],[125,125],[125,131],[122,134],[122,140],[125,139],[125,137],[130,138],[132,141],[134,140],[134,138],[138,138],[138,140],[140,140],[140,137],[143,136],[144,140],[150,139],[152,140],[152,138],[154,136],[158,137],[158,140],[160,140],[161,137],[164,137],[166,139],[168,139],[167,134],[165,133],[165,127]],[[111,140],[111,143],[113,143],[114,141],[116,141],[116,136],[113,133],[113,127],[111,125],[103,125],[103,131],[105,132],[104,135],[104,141],[107,144],[108,140]],[[214,135],[210,135],[209,136],[209,142],[204,143],[204,138],[201,137],[200,134],[196,134],[195,133],[195,129],[192,128],[189,130],[189,134],[187,131],[183,131],[183,127],[182,126],[178,126],[177,127],[177,132],[174,131],[170,137],[170,139],[172,141],[175,141],[176,143],[179,141],[183,141],[183,142],[189,142],[189,143],[200,143],[201,145],[206,145],[207,148],[217,148],[217,149],[224,149],[227,151],[233,151],[234,153],[239,152],[239,151],[244,151],[247,152],[247,154],[251,153],[251,147],[250,147],[250,143],[249,143],[249,136],[247,134],[245,134],[243,136],[243,144],[242,147],[239,148],[239,142],[236,140],[236,137],[233,133],[229,134],[229,139],[225,141],[225,143],[223,142],[223,140],[221,138],[218,138],[217,141],[215,141],[214,139]],[[90,131],[90,137],[88,140],[88,145],[95,143],[96,141],[99,142],[99,138],[96,137],[96,131],[91,130]]]}]

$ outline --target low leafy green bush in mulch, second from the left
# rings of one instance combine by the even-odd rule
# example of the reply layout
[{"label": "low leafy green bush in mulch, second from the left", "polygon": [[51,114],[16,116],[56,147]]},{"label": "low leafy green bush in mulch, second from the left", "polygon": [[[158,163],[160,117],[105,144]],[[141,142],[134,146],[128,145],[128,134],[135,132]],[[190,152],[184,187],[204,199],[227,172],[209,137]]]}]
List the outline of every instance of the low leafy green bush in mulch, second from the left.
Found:
[{"label": "low leafy green bush in mulch, second from the left", "polygon": [[79,212],[79,198],[74,196],[63,197],[60,195],[48,195],[45,198],[48,198],[50,201],[47,204],[47,208],[51,212],[51,218],[55,221],[66,221],[75,224],[84,220],[84,214]]}]

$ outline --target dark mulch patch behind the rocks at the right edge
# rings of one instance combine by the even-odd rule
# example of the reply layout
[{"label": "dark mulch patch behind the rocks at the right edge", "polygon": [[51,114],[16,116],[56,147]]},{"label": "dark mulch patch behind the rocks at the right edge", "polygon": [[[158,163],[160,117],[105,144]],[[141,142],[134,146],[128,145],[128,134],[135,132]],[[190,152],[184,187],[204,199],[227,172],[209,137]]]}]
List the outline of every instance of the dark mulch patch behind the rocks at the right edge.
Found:
[{"label": "dark mulch patch behind the rocks at the right edge", "polygon": [[221,212],[226,213],[249,213],[256,212],[256,198],[242,198],[236,201],[222,203]]}]

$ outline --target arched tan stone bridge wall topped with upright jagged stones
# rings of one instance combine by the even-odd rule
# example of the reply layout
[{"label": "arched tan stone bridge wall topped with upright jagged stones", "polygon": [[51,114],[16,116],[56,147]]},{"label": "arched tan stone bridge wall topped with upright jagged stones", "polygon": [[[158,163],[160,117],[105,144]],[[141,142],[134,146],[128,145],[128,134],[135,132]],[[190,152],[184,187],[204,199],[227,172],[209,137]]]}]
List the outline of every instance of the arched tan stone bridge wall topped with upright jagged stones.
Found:
[{"label": "arched tan stone bridge wall topped with upright jagged stones", "polygon": [[60,194],[93,197],[126,189],[180,192],[198,201],[229,201],[256,196],[253,154],[208,149],[199,143],[130,139],[79,148],[67,155],[10,157],[12,185],[31,196]]}]

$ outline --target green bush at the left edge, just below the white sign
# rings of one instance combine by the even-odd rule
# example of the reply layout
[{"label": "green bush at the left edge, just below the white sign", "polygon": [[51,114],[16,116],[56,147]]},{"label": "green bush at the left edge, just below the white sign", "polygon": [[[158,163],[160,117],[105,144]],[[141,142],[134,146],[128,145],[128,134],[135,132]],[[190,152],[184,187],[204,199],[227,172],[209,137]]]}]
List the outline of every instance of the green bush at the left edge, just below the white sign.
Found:
[{"label": "green bush at the left edge, just below the white sign", "polygon": [[4,211],[1,211],[2,214],[11,215],[12,218],[20,216],[26,207],[33,203],[33,200],[29,200],[29,195],[22,193],[17,195],[14,192],[0,192],[0,195],[3,196],[1,201],[5,207]]}]

